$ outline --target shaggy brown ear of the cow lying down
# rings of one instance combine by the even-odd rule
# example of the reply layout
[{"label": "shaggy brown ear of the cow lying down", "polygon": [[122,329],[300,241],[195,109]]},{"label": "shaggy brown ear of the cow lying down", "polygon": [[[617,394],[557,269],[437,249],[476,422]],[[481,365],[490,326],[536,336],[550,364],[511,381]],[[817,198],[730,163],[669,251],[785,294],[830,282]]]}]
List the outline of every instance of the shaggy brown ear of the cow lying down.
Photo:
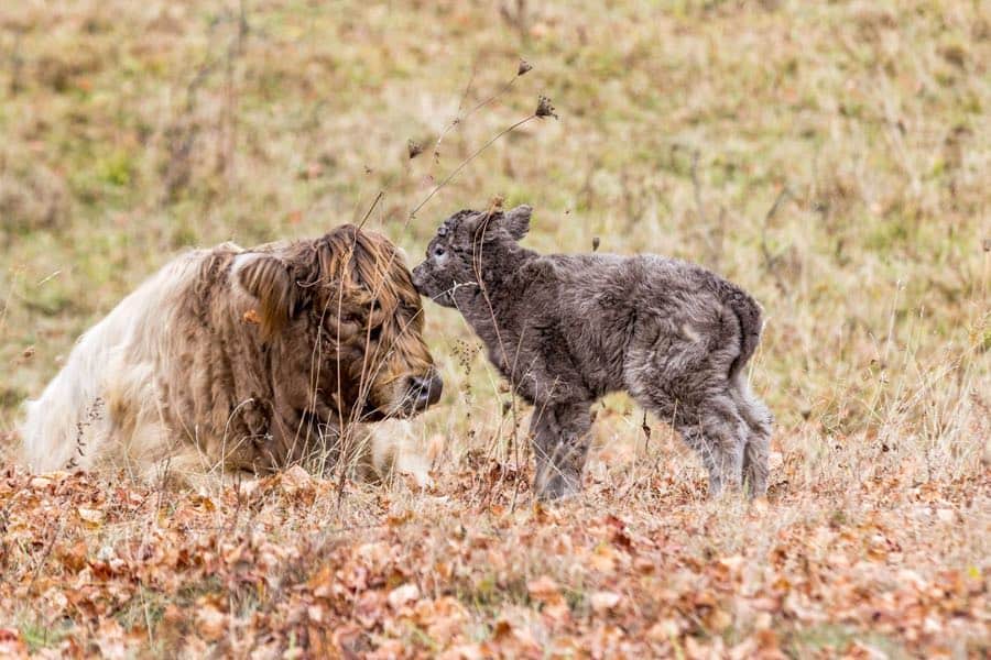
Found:
[{"label": "shaggy brown ear of the cow lying down", "polygon": [[257,322],[263,341],[272,339],[285,327],[296,307],[296,278],[293,267],[270,254],[243,254],[235,261],[238,283],[258,300],[254,315],[246,319]]}]

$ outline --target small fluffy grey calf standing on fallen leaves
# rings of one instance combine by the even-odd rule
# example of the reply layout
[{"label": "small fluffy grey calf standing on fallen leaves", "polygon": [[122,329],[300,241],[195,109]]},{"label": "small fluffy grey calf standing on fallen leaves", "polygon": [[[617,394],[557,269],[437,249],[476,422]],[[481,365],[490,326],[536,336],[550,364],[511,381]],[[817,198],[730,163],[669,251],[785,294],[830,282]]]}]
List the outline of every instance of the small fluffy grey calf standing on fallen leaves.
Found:
[{"label": "small fluffy grey calf standing on fallen leaves", "polygon": [[742,373],[761,332],[753,298],[661,256],[537,254],[518,244],[530,216],[527,206],[455,213],[413,280],[464,315],[533,404],[536,493],[580,490],[589,409],[624,389],[698,452],[711,494],[744,479],[763,494],[772,419]]}]

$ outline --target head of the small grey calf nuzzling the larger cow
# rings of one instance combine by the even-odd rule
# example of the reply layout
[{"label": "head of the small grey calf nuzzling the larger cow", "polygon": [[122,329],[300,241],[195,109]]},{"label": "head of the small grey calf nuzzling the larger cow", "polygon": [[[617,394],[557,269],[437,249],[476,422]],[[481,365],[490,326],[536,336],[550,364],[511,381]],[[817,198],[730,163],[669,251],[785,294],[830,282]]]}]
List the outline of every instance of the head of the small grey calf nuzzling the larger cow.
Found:
[{"label": "head of the small grey calf nuzzling the larger cow", "polygon": [[426,260],[413,270],[416,289],[439,305],[456,307],[460,290],[475,290],[486,270],[498,268],[520,250],[516,241],[530,230],[532,212],[524,205],[449,217],[427,245]]}]

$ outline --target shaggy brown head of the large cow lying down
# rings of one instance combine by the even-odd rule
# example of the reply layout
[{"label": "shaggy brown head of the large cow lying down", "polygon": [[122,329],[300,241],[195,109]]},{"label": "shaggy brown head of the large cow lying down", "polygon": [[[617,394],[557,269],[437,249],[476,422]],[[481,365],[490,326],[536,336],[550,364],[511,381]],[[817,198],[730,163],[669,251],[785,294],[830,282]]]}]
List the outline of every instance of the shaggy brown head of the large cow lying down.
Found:
[{"label": "shaggy brown head of the large cow lying down", "polygon": [[443,383],[423,339],[412,276],[384,237],[344,226],[238,255],[232,275],[253,302],[286,419],[412,416]]}]

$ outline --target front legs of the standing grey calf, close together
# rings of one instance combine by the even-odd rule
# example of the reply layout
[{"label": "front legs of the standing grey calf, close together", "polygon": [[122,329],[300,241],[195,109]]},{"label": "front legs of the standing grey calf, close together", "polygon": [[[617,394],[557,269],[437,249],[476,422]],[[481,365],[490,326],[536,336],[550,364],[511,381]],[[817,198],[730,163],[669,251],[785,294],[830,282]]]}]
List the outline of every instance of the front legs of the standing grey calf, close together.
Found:
[{"label": "front legs of the standing grey calf, close together", "polygon": [[534,491],[541,499],[557,499],[581,491],[591,428],[589,406],[581,402],[534,407],[530,432],[536,457]]}]

